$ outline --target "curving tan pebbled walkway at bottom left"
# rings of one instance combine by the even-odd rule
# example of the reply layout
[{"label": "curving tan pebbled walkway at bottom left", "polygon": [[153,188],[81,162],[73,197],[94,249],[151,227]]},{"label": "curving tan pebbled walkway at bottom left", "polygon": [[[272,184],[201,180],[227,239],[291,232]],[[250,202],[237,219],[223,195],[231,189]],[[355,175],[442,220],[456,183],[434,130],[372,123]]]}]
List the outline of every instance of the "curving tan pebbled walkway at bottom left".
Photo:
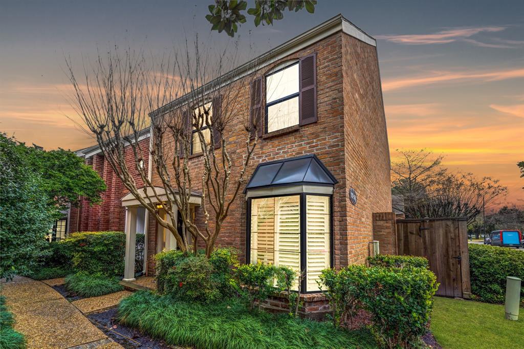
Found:
[{"label": "curving tan pebbled walkway at bottom left", "polygon": [[46,283],[17,276],[2,282],[1,293],[27,348],[122,348]]}]

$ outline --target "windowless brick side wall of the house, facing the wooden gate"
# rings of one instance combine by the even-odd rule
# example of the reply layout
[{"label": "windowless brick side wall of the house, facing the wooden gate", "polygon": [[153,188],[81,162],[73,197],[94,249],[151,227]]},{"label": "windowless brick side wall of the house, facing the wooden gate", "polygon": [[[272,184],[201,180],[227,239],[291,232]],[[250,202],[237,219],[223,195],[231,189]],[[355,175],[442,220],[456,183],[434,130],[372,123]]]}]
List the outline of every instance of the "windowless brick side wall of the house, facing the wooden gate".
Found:
[{"label": "windowless brick side wall of the house, facing the wooden gate", "polygon": [[[347,263],[364,263],[373,241],[373,213],[391,211],[389,146],[377,50],[342,34],[344,71],[344,206]],[[348,199],[355,189],[357,204]],[[341,259],[344,257],[341,256]]]}]

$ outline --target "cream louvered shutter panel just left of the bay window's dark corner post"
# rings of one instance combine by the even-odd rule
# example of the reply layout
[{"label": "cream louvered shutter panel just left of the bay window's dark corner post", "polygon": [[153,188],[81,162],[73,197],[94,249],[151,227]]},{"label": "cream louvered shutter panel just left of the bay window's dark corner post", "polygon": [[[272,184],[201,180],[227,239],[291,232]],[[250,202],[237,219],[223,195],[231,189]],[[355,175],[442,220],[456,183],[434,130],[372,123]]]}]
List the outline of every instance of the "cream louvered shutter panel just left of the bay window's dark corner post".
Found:
[{"label": "cream louvered shutter panel just left of the bay window's dark corner post", "polygon": [[[300,196],[275,198],[275,265],[300,273]],[[298,276],[293,288],[298,290]]]}]

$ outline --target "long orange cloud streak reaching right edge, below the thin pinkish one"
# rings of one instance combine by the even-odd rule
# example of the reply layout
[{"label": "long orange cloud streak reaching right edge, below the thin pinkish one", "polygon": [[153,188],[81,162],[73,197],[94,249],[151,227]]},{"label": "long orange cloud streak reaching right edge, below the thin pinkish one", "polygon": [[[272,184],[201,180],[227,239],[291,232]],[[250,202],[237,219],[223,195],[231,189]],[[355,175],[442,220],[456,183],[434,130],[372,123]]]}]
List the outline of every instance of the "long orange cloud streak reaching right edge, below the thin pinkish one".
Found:
[{"label": "long orange cloud streak reaching right edge, below the thin pinkish one", "polygon": [[432,76],[401,78],[386,80],[382,83],[383,91],[392,91],[410,88],[412,86],[430,85],[450,81],[483,80],[499,81],[507,79],[524,78],[524,69],[499,70],[491,72],[436,72]]}]

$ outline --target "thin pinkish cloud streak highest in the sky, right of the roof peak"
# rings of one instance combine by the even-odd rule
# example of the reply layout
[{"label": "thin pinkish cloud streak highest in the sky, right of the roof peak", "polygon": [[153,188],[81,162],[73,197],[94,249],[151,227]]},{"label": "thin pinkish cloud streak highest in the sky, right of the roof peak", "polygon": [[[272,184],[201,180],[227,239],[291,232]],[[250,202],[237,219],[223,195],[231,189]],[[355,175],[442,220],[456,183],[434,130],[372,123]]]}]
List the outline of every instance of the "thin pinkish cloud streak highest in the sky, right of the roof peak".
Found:
[{"label": "thin pinkish cloud streak highest in the sky, right of the roof peak", "polygon": [[438,31],[434,34],[411,34],[411,35],[378,35],[377,39],[391,42],[404,43],[407,45],[427,45],[429,43],[449,43],[462,38],[468,38],[479,32],[496,32],[506,29],[505,27],[478,27],[457,28]]}]

